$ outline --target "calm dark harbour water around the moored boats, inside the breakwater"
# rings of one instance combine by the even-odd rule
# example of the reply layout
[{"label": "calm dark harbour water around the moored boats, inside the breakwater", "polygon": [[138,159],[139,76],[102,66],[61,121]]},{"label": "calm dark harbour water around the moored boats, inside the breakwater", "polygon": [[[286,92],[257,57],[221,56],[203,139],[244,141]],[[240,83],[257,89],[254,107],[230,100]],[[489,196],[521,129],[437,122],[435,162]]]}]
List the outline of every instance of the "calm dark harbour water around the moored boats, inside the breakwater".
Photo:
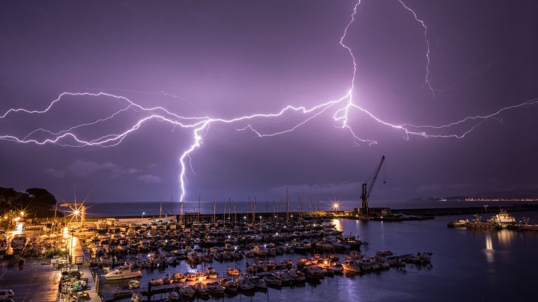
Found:
[{"label": "calm dark harbour water around the moored boats, inside the breakwater", "polygon": [[[517,213],[518,218],[538,221],[538,213]],[[445,216],[418,222],[361,222],[334,220],[345,233],[353,233],[369,244],[361,252],[378,250],[395,254],[433,252],[432,268],[408,265],[405,271],[389,271],[325,278],[319,285],[308,282],[303,287],[269,289],[252,296],[242,294],[222,301],[537,301],[534,287],[538,268],[538,232],[512,230],[476,231],[448,229],[450,220],[463,217]],[[299,254],[284,254],[275,259],[296,259]],[[343,259],[343,256],[340,257]],[[244,271],[243,259],[214,262],[220,273],[227,266]],[[195,271],[181,262],[165,272]],[[165,272],[146,273],[142,284],[151,278],[162,278]],[[125,283],[126,284],[126,283]],[[120,287],[121,284],[114,286]],[[158,296],[157,296],[158,298]],[[198,301],[198,300],[197,300]],[[202,300],[200,300],[202,301]]]}]

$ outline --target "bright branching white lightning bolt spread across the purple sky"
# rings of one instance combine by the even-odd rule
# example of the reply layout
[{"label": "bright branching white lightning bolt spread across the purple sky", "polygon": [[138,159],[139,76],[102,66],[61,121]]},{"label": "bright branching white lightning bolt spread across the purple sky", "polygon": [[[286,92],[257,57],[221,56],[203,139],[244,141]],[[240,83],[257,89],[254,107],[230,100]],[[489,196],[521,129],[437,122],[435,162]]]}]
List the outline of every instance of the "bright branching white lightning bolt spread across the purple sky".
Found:
[{"label": "bright branching white lightning bolt spread across the purple sky", "polygon": [[[432,94],[435,94],[435,89],[432,88],[432,85],[430,84],[430,81],[429,81],[430,50],[429,50],[429,41],[427,39],[428,28],[425,22],[422,21],[418,17],[418,15],[415,13],[413,9],[406,6],[406,4],[403,3],[403,1],[401,0],[398,0],[398,1],[399,3],[401,3],[403,8],[406,8],[406,10],[408,10],[409,12],[413,14],[413,17],[415,18],[415,20],[417,22],[420,22],[420,24],[422,25],[424,29],[425,41],[426,41],[426,46],[427,46],[427,51],[426,51],[427,66],[426,66],[425,85],[427,85],[427,87],[432,91]],[[179,157],[179,164],[181,166],[180,171],[179,171],[179,186],[180,186],[180,191],[181,191],[179,200],[183,202],[186,196],[187,164],[190,166],[191,171],[193,171],[194,173],[193,166],[191,163],[191,154],[203,145],[203,136],[204,134],[207,133],[207,131],[209,131],[209,127],[212,124],[231,124],[237,131],[250,131],[252,134],[254,134],[255,137],[264,138],[268,136],[278,136],[278,135],[292,132],[298,129],[298,127],[301,127],[304,124],[310,122],[311,120],[314,120],[316,117],[319,117],[319,115],[322,115],[323,113],[326,113],[332,110],[331,113],[333,114],[332,117],[333,117],[333,122],[335,122],[335,126],[341,129],[345,129],[346,131],[349,131],[351,136],[354,139],[354,143],[372,145],[378,142],[365,139],[365,138],[360,138],[359,136],[355,134],[352,127],[350,127],[349,120],[350,120],[350,113],[352,110],[356,110],[360,113],[364,113],[366,117],[371,118],[375,122],[378,122],[379,124],[382,124],[385,127],[402,131],[404,138],[406,139],[409,139],[410,136],[420,136],[422,138],[464,138],[464,136],[471,133],[471,131],[476,129],[476,127],[483,124],[483,122],[485,122],[486,120],[498,118],[498,116],[506,110],[513,110],[516,108],[527,108],[527,107],[538,105],[538,98],[530,99],[529,101],[525,101],[523,103],[501,108],[492,113],[464,117],[462,120],[457,120],[456,122],[451,122],[449,124],[441,124],[441,125],[392,124],[390,122],[382,120],[380,117],[377,117],[376,115],[368,111],[366,108],[359,106],[359,104],[354,102],[354,98],[353,98],[354,82],[355,82],[355,77],[357,75],[357,63],[353,55],[352,49],[345,44],[345,39],[347,38],[348,29],[350,29],[350,27],[352,26],[355,20],[355,17],[357,16],[357,8],[360,6],[360,4],[361,4],[361,1],[358,1],[357,3],[355,3],[352,14],[350,15],[350,21],[347,22],[347,25],[345,26],[345,29],[343,31],[343,35],[340,37],[340,40],[339,40],[339,43],[342,46],[342,48],[349,53],[352,59],[352,78],[350,82],[350,88],[347,90],[346,94],[344,94],[339,99],[326,101],[324,103],[319,103],[316,106],[312,106],[310,108],[307,108],[305,106],[285,106],[281,110],[274,113],[254,113],[251,115],[244,115],[240,117],[234,117],[231,119],[223,119],[223,118],[209,117],[205,115],[202,112],[202,110],[195,107],[192,103],[191,103],[191,106],[197,108],[200,111],[200,113],[202,113],[201,116],[182,116],[176,113],[172,113],[170,110],[167,110],[166,108],[161,107],[161,106],[156,106],[156,107],[141,106],[138,103],[131,101],[125,96],[119,96],[119,95],[111,94],[105,91],[99,91],[95,93],[94,92],[63,92],[57,97],[57,99],[54,99],[53,101],[51,101],[46,108],[43,108],[41,110],[28,110],[25,108],[11,108],[7,110],[3,115],[0,115],[0,120],[6,119],[8,118],[8,116],[14,115],[15,113],[26,114],[26,115],[43,115],[43,114],[48,113],[51,110],[51,108],[56,106],[57,103],[60,103],[60,101],[62,101],[63,99],[67,99],[68,97],[74,97],[74,96],[87,96],[87,97],[104,96],[104,97],[111,98],[113,100],[116,100],[122,103],[122,106],[120,109],[114,111],[113,113],[111,113],[110,115],[106,117],[93,120],[92,122],[76,124],[72,127],[69,127],[67,129],[63,129],[60,131],[50,131],[48,129],[43,129],[42,127],[40,127],[38,129],[34,129],[33,131],[23,136],[18,136],[15,134],[1,135],[0,140],[13,141],[16,143],[33,143],[36,145],[55,144],[55,145],[61,145],[61,146],[71,147],[71,148],[88,148],[92,146],[99,147],[99,148],[110,148],[110,147],[113,147],[122,143],[122,141],[127,136],[129,136],[129,134],[132,134],[133,132],[137,131],[137,129],[142,127],[143,124],[151,120],[157,120],[159,122],[166,122],[168,124],[171,124],[174,127],[174,129],[175,127],[180,127],[182,129],[191,129],[192,131],[191,132],[192,133],[191,145],[189,145],[188,148],[186,148],[186,150],[184,150],[184,152],[182,152]],[[458,81],[458,83],[459,82],[461,81]],[[92,89],[88,89],[88,90],[92,90]],[[142,94],[161,94],[163,96],[171,96],[174,98],[185,100],[184,98],[175,96],[174,94],[168,94],[166,92],[139,92],[135,90],[126,90],[126,89],[107,89],[106,91],[112,91],[112,90],[135,92],[135,93],[142,93]],[[127,127],[127,129],[124,129],[123,131],[119,131],[118,133],[105,134],[103,136],[98,136],[91,139],[83,138],[81,135],[77,134],[78,133],[77,131],[80,129],[92,127],[106,121],[118,119],[121,115],[124,115],[128,112],[144,113],[145,116],[137,120],[130,127]],[[281,129],[279,131],[273,131],[273,132],[264,132],[259,129],[256,129],[256,127],[253,126],[253,123],[256,122],[257,120],[271,120],[278,117],[286,117],[288,115],[300,115],[301,119],[298,122],[295,122],[291,127],[288,127],[286,129]],[[436,131],[450,131],[451,129],[454,129],[455,127],[460,127],[460,126],[464,127],[465,125],[469,123],[471,125],[467,127],[467,130],[463,131],[460,134],[454,134],[454,133],[453,134],[436,134]],[[36,136],[40,136],[40,135],[44,135],[46,136],[46,138],[36,138]]]}]

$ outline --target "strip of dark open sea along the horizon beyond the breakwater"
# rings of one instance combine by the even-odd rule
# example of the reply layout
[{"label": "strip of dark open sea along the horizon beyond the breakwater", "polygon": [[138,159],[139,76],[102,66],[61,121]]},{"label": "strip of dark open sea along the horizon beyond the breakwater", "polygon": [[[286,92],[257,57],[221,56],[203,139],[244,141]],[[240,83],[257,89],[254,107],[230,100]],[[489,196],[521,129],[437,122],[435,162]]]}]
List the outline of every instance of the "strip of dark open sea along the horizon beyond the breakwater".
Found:
[{"label": "strip of dark open sea along the horizon beyond the breakwater", "polygon": [[[353,208],[359,208],[361,206],[360,201],[338,201],[341,210],[352,210]],[[503,206],[512,206],[514,202],[504,202]],[[518,202],[523,203],[523,202]],[[179,213],[179,202],[163,201],[162,213]],[[247,201],[231,201],[224,203],[224,201],[216,201],[215,212],[216,213],[234,213],[234,206],[237,213],[251,213],[252,205],[254,201],[250,203]],[[483,205],[490,206],[488,211],[493,210],[499,206],[496,202],[477,202],[477,201],[371,201],[372,207],[389,207],[389,208],[450,208],[450,207],[481,207]],[[538,202],[530,202],[530,204],[538,204]],[[88,217],[91,216],[111,216],[111,215],[123,215],[123,216],[136,216],[146,213],[146,215],[159,215],[160,202],[132,202],[132,203],[87,203]],[[302,206],[300,206],[297,200],[290,201],[289,210],[291,212],[308,211],[308,210],[331,210],[332,201],[305,201],[303,200]],[[213,201],[201,201],[200,213],[212,214],[213,213]],[[226,206],[226,210],[225,210]],[[285,202],[280,201],[257,201],[256,213],[273,213],[286,211]],[[198,201],[185,201],[184,213],[198,212]]]}]

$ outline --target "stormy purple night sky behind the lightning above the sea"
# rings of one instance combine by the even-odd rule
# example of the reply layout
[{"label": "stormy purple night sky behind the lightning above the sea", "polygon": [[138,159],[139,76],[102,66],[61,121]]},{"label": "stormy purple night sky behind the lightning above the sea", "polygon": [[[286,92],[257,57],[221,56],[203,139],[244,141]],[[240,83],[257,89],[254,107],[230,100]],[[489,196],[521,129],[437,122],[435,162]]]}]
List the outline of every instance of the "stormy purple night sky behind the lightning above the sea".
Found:
[{"label": "stormy purple night sky behind the lightning above the sea", "polygon": [[[443,125],[538,96],[535,1],[364,0],[345,37],[357,63],[353,101],[392,124]],[[338,42],[354,1],[5,1],[0,10],[0,115],[43,110],[62,92],[108,92],[178,115],[234,118],[340,99],[353,62]],[[160,94],[157,92],[166,92]],[[173,94],[173,96],[172,96]],[[10,113],[0,136],[24,138],[107,117],[125,102],[65,96],[48,113]],[[375,145],[356,145],[336,109],[295,131],[258,138],[247,123],[212,123],[191,153],[186,199],[359,199],[382,154],[372,200],[538,189],[538,107],[448,129],[464,138],[405,139],[359,110],[349,125]],[[78,129],[117,134],[147,114],[128,110]],[[265,133],[305,119],[251,120]],[[35,139],[47,137],[43,134]],[[63,143],[70,143],[64,141]],[[0,186],[43,187],[70,200],[153,201],[180,194],[179,157],[192,129],[152,120],[111,148],[0,141]]]}]

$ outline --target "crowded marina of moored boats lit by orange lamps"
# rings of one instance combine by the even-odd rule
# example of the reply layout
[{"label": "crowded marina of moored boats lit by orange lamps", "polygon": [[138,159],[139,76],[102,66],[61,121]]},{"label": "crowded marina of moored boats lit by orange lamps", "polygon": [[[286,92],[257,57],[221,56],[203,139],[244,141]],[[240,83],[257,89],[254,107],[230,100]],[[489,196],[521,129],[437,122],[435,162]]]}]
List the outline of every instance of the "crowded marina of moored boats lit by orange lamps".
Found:
[{"label": "crowded marina of moored boats lit by orange lamps", "polygon": [[[61,232],[34,236],[14,231],[3,259],[7,268],[17,264],[19,270],[25,258],[35,259],[34,265],[41,261],[41,271],[47,268],[43,274],[56,278],[59,301],[233,298],[305,282],[317,285],[324,278],[401,270],[407,264],[430,265],[431,254],[423,251],[361,254],[367,243],[337,229],[334,214],[331,220],[263,213],[251,221],[243,216],[241,222],[185,215],[179,223],[176,217],[55,224]],[[19,243],[22,238],[25,243]]]}]

